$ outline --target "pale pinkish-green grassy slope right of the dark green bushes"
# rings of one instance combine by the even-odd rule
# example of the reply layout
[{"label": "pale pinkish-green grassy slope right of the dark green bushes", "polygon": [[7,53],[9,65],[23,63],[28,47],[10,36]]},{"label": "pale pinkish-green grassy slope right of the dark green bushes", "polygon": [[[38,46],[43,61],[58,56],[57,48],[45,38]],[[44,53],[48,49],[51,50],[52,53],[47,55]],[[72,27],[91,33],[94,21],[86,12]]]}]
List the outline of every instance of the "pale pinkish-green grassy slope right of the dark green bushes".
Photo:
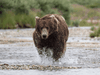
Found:
[{"label": "pale pinkish-green grassy slope right of the dark green bushes", "polygon": [[100,19],[100,8],[87,8],[83,5],[72,4],[71,11],[71,26],[75,26],[77,23],[79,26],[98,26],[100,23],[88,23],[87,20],[99,20]]}]

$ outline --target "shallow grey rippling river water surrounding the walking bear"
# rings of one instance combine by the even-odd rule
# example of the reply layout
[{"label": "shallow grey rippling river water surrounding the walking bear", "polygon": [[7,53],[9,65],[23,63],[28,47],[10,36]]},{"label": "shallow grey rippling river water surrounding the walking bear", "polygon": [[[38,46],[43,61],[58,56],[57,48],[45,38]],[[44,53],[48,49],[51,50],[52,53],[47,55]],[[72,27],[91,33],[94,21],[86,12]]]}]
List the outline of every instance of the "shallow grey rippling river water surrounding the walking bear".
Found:
[{"label": "shallow grey rippling river water surrounding the walking bear", "polygon": [[[71,29],[77,28],[69,28]],[[90,29],[89,28],[79,28]],[[77,29],[77,31],[79,30]],[[32,29],[22,29],[20,31],[31,31]],[[8,32],[6,32],[8,31]],[[0,40],[0,64],[9,65],[42,65],[42,66],[58,66],[70,67],[70,69],[60,70],[2,70],[0,75],[100,75],[100,38],[91,39],[87,35],[72,34],[67,42],[66,53],[59,62],[52,62],[50,58],[41,60],[34,46],[31,36],[15,36],[9,31],[17,30],[1,30],[1,34],[9,38],[29,40],[29,42],[6,42]],[[34,30],[32,30],[34,31]],[[80,31],[79,31],[80,32]],[[9,33],[9,34],[8,34]],[[6,34],[6,35],[5,35]],[[17,33],[15,33],[17,34]],[[74,37],[75,35],[75,37]],[[4,38],[1,36],[1,38]],[[74,67],[74,69],[71,67]]]}]

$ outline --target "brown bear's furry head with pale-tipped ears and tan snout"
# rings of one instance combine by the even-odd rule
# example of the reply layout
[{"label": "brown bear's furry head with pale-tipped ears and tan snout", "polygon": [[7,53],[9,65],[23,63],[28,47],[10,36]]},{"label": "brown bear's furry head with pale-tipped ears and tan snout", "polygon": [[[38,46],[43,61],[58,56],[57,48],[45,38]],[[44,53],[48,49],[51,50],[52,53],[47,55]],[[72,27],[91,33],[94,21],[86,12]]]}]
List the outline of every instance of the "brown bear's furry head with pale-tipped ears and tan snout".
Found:
[{"label": "brown bear's furry head with pale-tipped ears and tan snout", "polygon": [[44,16],[43,18],[36,17],[36,31],[42,39],[47,39],[49,35],[58,31],[59,21],[54,15]]}]

